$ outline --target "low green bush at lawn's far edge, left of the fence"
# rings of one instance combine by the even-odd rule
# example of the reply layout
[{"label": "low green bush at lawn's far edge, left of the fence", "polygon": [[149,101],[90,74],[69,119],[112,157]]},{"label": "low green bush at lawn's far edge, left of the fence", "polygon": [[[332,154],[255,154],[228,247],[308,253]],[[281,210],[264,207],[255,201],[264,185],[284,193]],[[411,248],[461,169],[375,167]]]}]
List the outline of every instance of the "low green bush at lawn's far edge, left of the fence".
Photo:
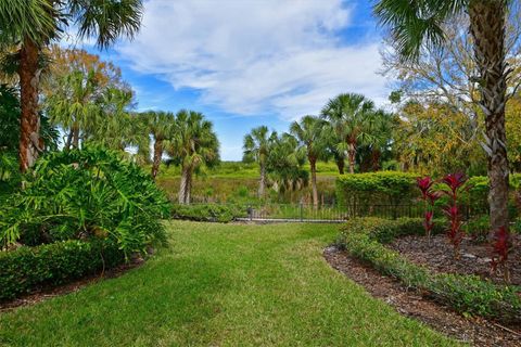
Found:
[{"label": "low green bush at lawn's far edge, left of the fence", "polygon": [[246,211],[236,205],[194,204],[174,205],[171,217],[198,221],[230,222],[238,217],[245,217]]}]

